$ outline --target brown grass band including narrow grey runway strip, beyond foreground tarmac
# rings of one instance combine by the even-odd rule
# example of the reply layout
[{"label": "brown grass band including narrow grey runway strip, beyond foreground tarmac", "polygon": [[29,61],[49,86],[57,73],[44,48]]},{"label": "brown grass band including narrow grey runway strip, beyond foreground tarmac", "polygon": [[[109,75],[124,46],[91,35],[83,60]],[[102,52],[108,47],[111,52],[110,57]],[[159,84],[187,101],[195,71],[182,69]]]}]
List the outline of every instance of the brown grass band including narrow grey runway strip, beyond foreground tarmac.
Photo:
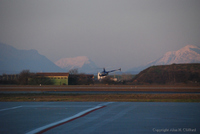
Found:
[{"label": "brown grass band including narrow grey runway strip, beyond foreground tarmac", "polygon": [[0,101],[200,102],[198,86],[2,86]]}]

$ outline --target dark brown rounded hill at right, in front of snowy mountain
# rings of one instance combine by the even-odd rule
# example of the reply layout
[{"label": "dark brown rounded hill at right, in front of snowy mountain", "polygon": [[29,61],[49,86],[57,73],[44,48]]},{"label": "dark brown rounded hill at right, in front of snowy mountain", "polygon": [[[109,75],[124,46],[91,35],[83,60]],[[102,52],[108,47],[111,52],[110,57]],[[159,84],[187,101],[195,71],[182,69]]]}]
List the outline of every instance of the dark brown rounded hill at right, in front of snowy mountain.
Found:
[{"label": "dark brown rounded hill at right, in front of snowy mountain", "polygon": [[151,66],[134,78],[135,84],[200,84],[200,64],[172,64]]}]

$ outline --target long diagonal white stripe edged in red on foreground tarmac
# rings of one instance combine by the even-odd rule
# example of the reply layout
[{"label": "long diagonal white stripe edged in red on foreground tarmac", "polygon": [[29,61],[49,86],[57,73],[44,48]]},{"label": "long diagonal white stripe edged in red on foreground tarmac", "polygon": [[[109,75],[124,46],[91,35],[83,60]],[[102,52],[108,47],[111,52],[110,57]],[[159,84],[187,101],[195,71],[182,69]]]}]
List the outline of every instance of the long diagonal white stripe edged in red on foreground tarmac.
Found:
[{"label": "long diagonal white stripe edged in red on foreground tarmac", "polygon": [[106,105],[108,105],[110,103],[113,103],[113,102],[99,104],[96,107],[93,107],[93,108],[87,109],[85,111],[82,111],[82,112],[80,112],[80,113],[78,113],[78,114],[76,114],[74,116],[71,116],[71,117],[65,118],[63,120],[60,120],[58,122],[54,122],[54,123],[42,126],[40,128],[34,129],[34,130],[28,132],[27,134],[42,134],[42,133],[44,133],[44,132],[46,132],[46,131],[48,131],[48,130],[50,130],[52,128],[55,128],[57,126],[63,125],[63,124],[68,123],[68,122],[71,122],[73,120],[76,120],[78,118],[86,116],[89,113],[92,113],[92,112],[94,112],[94,111],[96,111],[98,109],[104,108],[104,107],[106,107]]}]

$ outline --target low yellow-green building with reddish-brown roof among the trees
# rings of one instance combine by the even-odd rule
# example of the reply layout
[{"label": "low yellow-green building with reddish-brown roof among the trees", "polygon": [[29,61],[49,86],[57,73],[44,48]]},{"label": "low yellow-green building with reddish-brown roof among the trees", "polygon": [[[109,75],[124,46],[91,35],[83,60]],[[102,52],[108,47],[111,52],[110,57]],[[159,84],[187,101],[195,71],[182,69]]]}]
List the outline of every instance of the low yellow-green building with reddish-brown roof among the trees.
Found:
[{"label": "low yellow-green building with reddish-brown roof among the trees", "polygon": [[53,85],[68,85],[69,73],[36,73],[36,78],[49,78]]}]

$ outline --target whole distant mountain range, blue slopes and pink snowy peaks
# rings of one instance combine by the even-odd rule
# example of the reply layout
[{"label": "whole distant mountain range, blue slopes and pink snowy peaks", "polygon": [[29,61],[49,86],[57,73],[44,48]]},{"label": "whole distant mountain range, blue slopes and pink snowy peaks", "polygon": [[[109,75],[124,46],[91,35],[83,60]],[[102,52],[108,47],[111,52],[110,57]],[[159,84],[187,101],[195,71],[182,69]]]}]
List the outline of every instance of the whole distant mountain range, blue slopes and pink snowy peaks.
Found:
[{"label": "whole distant mountain range, blue slopes and pink snowy peaks", "polygon": [[[152,62],[129,69],[126,73],[137,74],[149,66],[174,63],[200,63],[200,47],[187,45],[177,51],[167,52]],[[79,73],[95,74],[98,67],[86,56],[62,58],[53,63],[37,50],[19,50],[0,43],[0,74],[15,74],[25,69],[30,72],[68,72],[75,68]]]}]

